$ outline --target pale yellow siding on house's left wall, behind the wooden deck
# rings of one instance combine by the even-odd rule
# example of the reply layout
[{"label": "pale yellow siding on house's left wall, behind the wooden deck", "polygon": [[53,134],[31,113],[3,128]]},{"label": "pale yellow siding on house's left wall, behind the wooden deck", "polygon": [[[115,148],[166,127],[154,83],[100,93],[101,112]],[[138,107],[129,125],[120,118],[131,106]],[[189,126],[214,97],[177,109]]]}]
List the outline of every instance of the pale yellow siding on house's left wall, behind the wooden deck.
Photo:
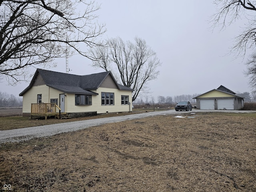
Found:
[{"label": "pale yellow siding on house's left wall, behind the wooden deck", "polygon": [[37,103],[37,95],[42,94],[42,102],[49,103],[50,99],[58,99],[59,101],[59,94],[62,92],[50,88],[46,85],[40,86],[32,86],[30,90],[28,90],[23,95],[23,113],[30,113],[31,112],[31,103]]}]

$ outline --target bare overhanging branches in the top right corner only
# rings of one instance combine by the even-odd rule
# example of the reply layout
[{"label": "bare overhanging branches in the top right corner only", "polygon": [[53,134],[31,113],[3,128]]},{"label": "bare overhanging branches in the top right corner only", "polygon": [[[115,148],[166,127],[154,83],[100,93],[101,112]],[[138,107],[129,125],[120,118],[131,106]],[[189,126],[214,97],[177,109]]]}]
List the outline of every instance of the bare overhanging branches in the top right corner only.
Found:
[{"label": "bare overhanging branches in the top right corner only", "polygon": [[213,27],[221,25],[222,29],[245,18],[248,22],[242,28],[242,32],[235,37],[232,48],[239,54],[245,54],[247,49],[255,48],[256,43],[256,2],[250,0],[214,0],[217,13],[212,16]]}]

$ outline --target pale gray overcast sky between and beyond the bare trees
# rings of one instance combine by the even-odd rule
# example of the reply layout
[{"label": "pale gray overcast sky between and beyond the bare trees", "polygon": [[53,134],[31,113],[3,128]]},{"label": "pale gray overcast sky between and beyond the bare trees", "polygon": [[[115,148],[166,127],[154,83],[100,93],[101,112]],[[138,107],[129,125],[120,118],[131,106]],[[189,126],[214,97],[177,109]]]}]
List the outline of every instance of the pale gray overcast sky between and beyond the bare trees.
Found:
[{"label": "pale gray overcast sky between and beyond the bare trees", "polygon": [[[157,53],[162,62],[160,75],[150,82],[151,95],[176,96],[202,94],[220,85],[234,92],[251,92],[248,78],[243,74],[247,58],[228,54],[234,45],[233,38],[239,34],[242,21],[220,31],[209,23],[216,13],[208,0],[96,0],[101,4],[98,21],[106,24],[107,32],[102,38],[120,36],[133,41],[138,36]],[[50,70],[66,72],[66,59],[58,59],[58,67]],[[86,75],[95,70],[91,61],[74,55],[68,59],[69,73]],[[31,68],[31,73],[36,71]],[[18,96],[27,83],[15,87],[2,80],[0,91]],[[150,96],[151,96],[150,95]]]}]

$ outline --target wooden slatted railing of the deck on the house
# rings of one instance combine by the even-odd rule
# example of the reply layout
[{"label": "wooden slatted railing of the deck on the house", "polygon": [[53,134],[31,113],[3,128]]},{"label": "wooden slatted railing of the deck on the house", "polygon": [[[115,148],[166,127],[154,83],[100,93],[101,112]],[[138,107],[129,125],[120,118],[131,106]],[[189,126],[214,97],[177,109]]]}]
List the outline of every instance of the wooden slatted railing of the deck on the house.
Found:
[{"label": "wooden slatted railing of the deck on the house", "polygon": [[32,103],[31,104],[31,113],[32,114],[50,114],[56,113],[56,108],[60,108],[56,103]]}]

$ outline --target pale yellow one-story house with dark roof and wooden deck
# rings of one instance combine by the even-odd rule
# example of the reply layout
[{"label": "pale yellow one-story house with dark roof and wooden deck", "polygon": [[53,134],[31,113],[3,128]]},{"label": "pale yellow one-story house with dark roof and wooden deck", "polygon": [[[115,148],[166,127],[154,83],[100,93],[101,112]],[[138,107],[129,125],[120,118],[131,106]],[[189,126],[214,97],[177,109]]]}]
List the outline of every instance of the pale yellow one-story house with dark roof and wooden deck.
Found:
[{"label": "pale yellow one-story house with dark roof and wooden deck", "polygon": [[[74,75],[37,69],[23,96],[24,116],[68,114],[71,117],[132,111],[132,89],[111,72]],[[60,116],[57,116],[58,118]]]}]

